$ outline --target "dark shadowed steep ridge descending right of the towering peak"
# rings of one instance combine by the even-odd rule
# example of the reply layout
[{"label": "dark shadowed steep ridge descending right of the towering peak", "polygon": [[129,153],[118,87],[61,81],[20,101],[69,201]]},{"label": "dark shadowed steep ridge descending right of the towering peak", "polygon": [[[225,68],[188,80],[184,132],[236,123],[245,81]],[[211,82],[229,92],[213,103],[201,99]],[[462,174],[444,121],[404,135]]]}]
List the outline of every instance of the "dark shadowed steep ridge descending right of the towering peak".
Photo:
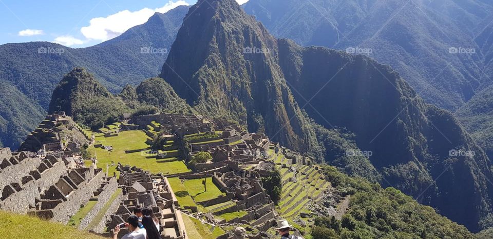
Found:
[{"label": "dark shadowed steep ridge descending right of the towering peak", "polygon": [[[297,101],[325,127],[345,127],[371,152],[385,184],[470,230],[491,212],[491,162],[451,113],[424,103],[388,66],[365,56],[279,40],[280,66]],[[453,183],[451,183],[453,182]]]}]

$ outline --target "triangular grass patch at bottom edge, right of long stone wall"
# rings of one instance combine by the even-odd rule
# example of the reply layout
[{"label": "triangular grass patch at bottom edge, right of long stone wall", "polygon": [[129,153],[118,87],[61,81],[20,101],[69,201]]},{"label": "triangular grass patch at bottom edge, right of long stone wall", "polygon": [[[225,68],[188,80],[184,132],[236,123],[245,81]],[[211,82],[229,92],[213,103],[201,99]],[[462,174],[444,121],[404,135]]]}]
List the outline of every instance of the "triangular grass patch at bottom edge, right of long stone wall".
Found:
[{"label": "triangular grass patch at bottom edge, right of long stone wall", "polygon": [[216,239],[225,232],[220,227],[203,224],[194,217],[183,214],[183,223],[187,233],[187,238],[194,239]]}]

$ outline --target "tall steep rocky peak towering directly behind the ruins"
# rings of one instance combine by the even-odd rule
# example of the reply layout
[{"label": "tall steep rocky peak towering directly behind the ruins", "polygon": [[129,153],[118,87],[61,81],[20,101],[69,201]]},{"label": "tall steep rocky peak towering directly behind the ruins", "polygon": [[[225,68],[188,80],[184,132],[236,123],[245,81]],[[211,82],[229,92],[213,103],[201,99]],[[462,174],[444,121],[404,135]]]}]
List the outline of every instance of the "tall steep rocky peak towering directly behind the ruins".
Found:
[{"label": "tall steep rocky peak towering directly behind the ruins", "polygon": [[316,140],[277,64],[277,42],[233,0],[198,1],[178,31],[164,78],[199,113],[263,127],[308,151]]}]

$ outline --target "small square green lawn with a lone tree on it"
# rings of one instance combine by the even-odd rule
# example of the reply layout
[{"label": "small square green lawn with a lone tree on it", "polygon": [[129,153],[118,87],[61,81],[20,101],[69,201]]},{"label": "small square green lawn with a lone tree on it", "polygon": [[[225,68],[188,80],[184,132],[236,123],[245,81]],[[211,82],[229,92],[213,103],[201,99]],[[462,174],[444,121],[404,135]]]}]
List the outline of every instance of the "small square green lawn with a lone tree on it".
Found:
[{"label": "small square green lawn with a lone tree on it", "polygon": [[185,180],[184,182],[186,191],[188,191],[196,202],[203,202],[220,195],[226,195],[212,182],[212,177],[206,178],[207,191],[204,192],[204,185],[202,184],[203,180],[203,178],[200,178],[196,180]]}]

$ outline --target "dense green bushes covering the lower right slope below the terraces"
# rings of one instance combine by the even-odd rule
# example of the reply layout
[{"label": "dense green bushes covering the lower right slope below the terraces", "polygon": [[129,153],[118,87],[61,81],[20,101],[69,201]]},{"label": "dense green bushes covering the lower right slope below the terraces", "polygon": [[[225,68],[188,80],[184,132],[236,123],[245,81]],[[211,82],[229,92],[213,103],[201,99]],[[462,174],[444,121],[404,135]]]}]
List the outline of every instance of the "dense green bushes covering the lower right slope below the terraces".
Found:
[{"label": "dense green bushes covering the lower right slope below the terraces", "polygon": [[464,226],[399,190],[383,189],[362,178],[349,177],[332,166],[324,170],[337,190],[351,195],[350,210],[342,221],[317,218],[314,238],[472,238]]}]

